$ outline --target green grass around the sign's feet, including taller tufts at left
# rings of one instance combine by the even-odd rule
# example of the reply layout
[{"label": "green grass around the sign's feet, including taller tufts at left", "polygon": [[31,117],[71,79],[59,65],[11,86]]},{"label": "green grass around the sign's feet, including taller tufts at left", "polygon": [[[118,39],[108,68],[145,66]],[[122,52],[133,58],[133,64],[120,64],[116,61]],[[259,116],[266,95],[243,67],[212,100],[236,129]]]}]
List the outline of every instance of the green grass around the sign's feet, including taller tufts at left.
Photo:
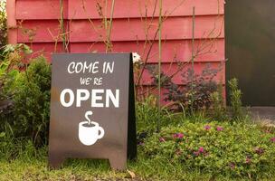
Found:
[{"label": "green grass around the sign's feet, including taller tufts at left", "polygon": [[[35,150],[31,141],[11,139],[0,151],[0,180],[250,180],[248,176],[213,176],[213,173],[186,167],[162,154],[147,157],[142,147],[138,147],[137,160],[128,161],[126,171],[112,170],[108,160],[92,159],[68,159],[62,168],[51,170],[47,164],[47,150],[47,147]],[[261,177],[275,180],[273,170],[269,176]],[[132,178],[129,172],[135,176]]]}]

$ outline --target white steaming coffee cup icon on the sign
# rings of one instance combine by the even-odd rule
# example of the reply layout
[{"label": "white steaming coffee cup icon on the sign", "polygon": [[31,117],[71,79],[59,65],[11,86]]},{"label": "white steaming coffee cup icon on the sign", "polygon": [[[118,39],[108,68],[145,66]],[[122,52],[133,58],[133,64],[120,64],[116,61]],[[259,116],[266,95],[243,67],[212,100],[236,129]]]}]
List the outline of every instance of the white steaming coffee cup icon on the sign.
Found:
[{"label": "white steaming coffee cup icon on the sign", "polygon": [[92,111],[85,113],[85,121],[79,123],[79,139],[83,145],[91,146],[95,144],[100,138],[104,137],[105,131],[100,124],[95,121],[91,121],[89,116],[92,115]]}]

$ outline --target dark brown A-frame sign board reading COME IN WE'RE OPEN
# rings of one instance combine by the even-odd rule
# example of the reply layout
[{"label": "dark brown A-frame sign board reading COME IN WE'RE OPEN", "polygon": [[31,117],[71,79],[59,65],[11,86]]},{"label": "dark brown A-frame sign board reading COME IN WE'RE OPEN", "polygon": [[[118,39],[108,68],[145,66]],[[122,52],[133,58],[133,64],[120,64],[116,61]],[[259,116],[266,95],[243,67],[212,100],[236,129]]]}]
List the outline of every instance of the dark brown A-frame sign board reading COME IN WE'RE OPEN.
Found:
[{"label": "dark brown A-frame sign board reading COME IN WE'RE OPEN", "polygon": [[125,169],[137,156],[131,53],[52,54],[49,165],[109,159]]}]

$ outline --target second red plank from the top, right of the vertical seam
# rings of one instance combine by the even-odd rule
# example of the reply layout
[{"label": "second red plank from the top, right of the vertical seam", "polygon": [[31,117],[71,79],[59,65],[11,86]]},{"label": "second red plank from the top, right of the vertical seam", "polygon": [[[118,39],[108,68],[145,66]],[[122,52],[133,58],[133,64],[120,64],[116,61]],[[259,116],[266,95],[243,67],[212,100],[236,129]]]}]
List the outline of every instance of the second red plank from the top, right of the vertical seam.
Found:
[{"label": "second red plank from the top, right of the vertical seam", "polygon": [[[195,39],[206,37],[224,37],[223,15],[198,16],[195,19]],[[140,19],[115,19],[113,21],[112,41],[143,41],[153,40],[157,30],[157,18],[151,28],[145,33],[148,24]],[[88,20],[75,20],[71,22],[70,41],[75,42],[102,42],[106,38],[106,30],[98,20],[90,23]],[[148,37],[148,38],[147,38]],[[192,38],[192,17],[171,17],[163,24],[163,40],[181,40]]]}]

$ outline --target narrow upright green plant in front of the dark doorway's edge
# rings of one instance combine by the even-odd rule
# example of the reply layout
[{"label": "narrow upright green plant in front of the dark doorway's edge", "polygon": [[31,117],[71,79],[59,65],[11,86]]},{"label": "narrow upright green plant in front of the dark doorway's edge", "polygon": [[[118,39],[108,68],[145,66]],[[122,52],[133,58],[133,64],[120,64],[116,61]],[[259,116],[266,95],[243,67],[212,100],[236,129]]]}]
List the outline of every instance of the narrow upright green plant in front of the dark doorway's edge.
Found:
[{"label": "narrow upright green plant in front of the dark doorway's edge", "polygon": [[230,88],[230,103],[232,107],[232,119],[242,119],[242,91],[238,88],[238,80],[228,81]]}]

